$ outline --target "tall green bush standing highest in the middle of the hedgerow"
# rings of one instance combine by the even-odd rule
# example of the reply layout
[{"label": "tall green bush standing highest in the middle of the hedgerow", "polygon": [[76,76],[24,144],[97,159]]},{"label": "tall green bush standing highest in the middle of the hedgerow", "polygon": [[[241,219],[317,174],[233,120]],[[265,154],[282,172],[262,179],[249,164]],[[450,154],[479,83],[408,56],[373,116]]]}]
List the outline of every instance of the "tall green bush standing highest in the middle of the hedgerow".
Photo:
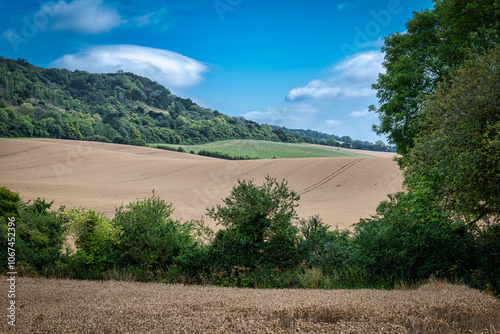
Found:
[{"label": "tall green bush standing highest in the middle of the hedgerow", "polygon": [[253,181],[238,181],[224,206],[208,210],[208,216],[225,227],[217,232],[211,245],[215,266],[291,267],[298,263],[298,228],[295,191],[287,182],[269,176],[262,186]]}]

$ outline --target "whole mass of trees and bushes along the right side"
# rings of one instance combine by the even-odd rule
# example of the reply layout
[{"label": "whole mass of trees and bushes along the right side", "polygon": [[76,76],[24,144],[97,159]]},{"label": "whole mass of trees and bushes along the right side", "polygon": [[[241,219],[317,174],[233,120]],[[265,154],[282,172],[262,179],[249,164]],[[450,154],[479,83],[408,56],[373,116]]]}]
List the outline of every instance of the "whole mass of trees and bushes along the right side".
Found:
[{"label": "whole mass of trees and bushes along the right side", "polygon": [[357,224],[370,276],[453,273],[499,293],[499,19],[498,1],[436,0],[386,39],[376,130],[397,144],[407,191]]}]

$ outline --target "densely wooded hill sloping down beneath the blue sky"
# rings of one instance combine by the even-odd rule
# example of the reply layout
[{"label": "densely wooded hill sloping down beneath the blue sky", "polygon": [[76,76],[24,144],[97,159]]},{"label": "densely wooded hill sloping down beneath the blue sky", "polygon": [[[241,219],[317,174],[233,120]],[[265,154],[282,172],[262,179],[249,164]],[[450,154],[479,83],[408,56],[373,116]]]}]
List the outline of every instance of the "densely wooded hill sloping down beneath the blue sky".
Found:
[{"label": "densely wooded hill sloping down beneath the blue sky", "polygon": [[[134,145],[254,139],[352,147],[352,140],[342,142],[342,138],[318,134],[258,124],[203,108],[133,73],[46,69],[24,59],[0,57],[0,137]],[[369,144],[372,148],[362,148],[390,150],[383,143]]]}]

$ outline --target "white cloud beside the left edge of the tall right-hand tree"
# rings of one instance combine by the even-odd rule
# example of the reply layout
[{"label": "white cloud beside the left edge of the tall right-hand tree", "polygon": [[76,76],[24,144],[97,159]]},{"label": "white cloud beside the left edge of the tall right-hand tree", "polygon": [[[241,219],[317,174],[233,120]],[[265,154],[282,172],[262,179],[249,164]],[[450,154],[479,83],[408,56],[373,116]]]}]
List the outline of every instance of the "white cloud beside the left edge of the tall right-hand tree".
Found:
[{"label": "white cloud beside the left edge of the tall right-hand tree", "polygon": [[384,55],[377,51],[357,53],[333,66],[332,75],[326,79],[315,79],[305,87],[293,88],[287,101],[331,100],[358,98],[375,95],[371,85],[383,73]]}]

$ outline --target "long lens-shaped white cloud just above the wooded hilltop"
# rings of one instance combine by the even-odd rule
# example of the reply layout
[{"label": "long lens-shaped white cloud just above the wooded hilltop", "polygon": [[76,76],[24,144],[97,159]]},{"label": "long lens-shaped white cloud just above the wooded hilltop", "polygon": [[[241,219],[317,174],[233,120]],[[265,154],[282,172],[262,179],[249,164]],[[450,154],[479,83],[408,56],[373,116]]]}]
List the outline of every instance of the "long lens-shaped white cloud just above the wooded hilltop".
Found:
[{"label": "long lens-shaped white cloud just above the wooded hilltop", "polygon": [[181,54],[137,45],[102,45],[65,55],[50,67],[114,73],[118,70],[148,77],[167,88],[192,86],[203,80],[208,67]]}]

